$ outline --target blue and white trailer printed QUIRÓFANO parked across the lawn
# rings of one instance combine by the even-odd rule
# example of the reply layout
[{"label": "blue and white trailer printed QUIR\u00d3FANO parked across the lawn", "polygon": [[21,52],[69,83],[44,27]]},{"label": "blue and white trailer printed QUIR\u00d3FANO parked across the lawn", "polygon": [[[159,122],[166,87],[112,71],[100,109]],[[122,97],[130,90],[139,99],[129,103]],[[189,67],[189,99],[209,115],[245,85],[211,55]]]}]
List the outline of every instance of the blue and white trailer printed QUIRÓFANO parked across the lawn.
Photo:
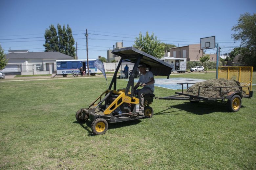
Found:
[{"label": "blue and white trailer printed QUIR\u00d3FANO parked across the lawn", "polygon": [[[89,73],[95,76],[97,68],[94,67],[93,62],[95,59],[89,59]],[[80,67],[83,67],[85,74],[88,74],[87,60],[85,59],[69,59],[69,60],[56,60],[57,74],[66,77],[68,74],[80,74]]]}]

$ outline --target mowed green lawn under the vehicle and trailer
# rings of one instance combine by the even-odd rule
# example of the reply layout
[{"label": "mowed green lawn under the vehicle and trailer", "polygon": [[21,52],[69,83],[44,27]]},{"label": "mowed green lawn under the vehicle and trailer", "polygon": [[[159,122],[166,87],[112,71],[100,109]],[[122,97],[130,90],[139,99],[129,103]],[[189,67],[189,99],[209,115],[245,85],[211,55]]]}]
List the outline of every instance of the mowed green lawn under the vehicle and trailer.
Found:
[{"label": "mowed green lawn under the vehicle and trailer", "polygon": [[[154,100],[152,118],[96,136],[75,112],[106,88],[103,77],[0,81],[0,169],[256,169],[255,96],[235,113],[221,102]],[[155,87],[159,97],[177,91]]]}]

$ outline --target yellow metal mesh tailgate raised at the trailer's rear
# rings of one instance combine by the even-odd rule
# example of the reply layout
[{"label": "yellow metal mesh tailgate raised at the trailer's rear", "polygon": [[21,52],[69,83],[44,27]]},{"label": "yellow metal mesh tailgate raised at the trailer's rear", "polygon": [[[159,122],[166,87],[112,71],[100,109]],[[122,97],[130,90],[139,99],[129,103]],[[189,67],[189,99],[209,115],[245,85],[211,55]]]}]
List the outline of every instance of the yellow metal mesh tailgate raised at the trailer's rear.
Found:
[{"label": "yellow metal mesh tailgate raised at the trailer's rear", "polygon": [[[221,66],[218,69],[218,78],[233,79],[240,82],[241,86],[252,86],[252,69],[253,67],[233,67]],[[246,94],[249,94],[247,88],[243,88]]]}]

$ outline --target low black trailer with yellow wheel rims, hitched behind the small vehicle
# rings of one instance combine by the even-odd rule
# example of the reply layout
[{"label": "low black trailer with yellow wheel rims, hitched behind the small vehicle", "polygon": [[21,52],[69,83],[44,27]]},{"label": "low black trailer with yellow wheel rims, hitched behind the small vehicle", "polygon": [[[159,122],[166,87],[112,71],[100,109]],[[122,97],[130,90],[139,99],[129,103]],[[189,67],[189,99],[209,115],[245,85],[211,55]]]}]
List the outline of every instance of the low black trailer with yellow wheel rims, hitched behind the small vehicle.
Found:
[{"label": "low black trailer with yellow wheel rims, hitched behind the small vehicle", "polygon": [[[233,87],[203,87],[203,86],[199,86],[198,88],[198,95],[190,95],[190,94],[186,94],[184,93],[184,85],[186,85],[187,89],[188,89],[188,84],[195,84],[195,83],[177,83],[180,84],[182,86],[182,92],[175,92],[176,95],[172,95],[172,96],[167,96],[167,97],[155,97],[155,99],[159,99],[159,100],[188,100],[191,103],[198,103],[200,101],[220,101],[223,103],[226,103],[227,105],[227,109],[230,110],[231,112],[236,112],[238,111],[241,106],[242,106],[242,97],[244,98],[251,98],[253,95],[253,91],[250,91],[248,86],[233,86]],[[240,90],[239,91],[234,91],[234,92],[225,92],[226,88],[234,88],[237,87]],[[216,98],[210,98],[210,97],[204,97],[200,95],[200,90],[203,88],[207,88],[207,89],[211,89],[211,88],[216,88],[219,89],[219,94],[223,94],[225,93],[226,96],[220,96],[220,97],[216,97]],[[243,90],[244,89],[244,90]],[[243,95],[243,91],[246,91],[248,93],[246,93],[245,95]]]}]

